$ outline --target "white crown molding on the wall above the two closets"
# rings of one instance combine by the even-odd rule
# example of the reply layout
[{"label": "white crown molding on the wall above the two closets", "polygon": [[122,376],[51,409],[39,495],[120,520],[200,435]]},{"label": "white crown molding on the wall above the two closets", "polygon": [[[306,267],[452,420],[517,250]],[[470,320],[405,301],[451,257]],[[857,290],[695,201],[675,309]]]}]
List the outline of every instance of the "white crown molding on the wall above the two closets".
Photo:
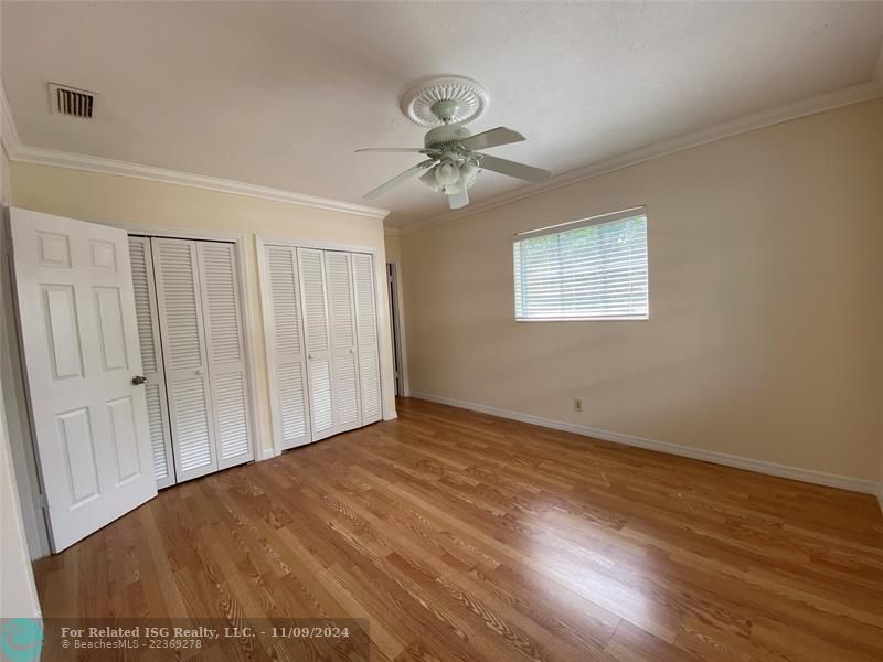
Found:
[{"label": "white crown molding on the wall above the two closets", "polygon": [[316,195],[307,195],[295,191],[270,189],[268,186],[259,186],[246,182],[206,177],[167,168],[157,168],[155,166],[145,166],[130,161],[117,161],[115,159],[91,157],[88,154],[29,147],[19,139],[12,118],[12,111],[10,110],[6,92],[2,87],[0,87],[0,127],[2,127],[0,129],[2,130],[0,137],[2,137],[3,143],[6,145],[10,161],[36,163],[39,166],[55,166],[57,168],[85,170],[99,174],[130,177],[166,184],[178,184],[180,186],[204,189],[208,191],[217,191],[220,193],[232,193],[234,195],[245,195],[248,197],[259,197],[262,200],[272,200],[274,202],[284,202],[332,212],[343,212],[357,216],[366,216],[369,218],[383,220],[390,214],[389,210],[352,204],[350,202],[342,202],[328,197],[318,197]]}]

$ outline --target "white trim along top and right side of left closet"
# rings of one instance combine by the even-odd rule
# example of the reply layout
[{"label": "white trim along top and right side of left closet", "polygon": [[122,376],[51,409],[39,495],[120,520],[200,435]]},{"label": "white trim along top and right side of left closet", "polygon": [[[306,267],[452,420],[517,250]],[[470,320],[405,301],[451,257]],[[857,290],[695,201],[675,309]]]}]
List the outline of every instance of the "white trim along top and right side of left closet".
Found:
[{"label": "white trim along top and right side of left closet", "polygon": [[[254,342],[254,316],[252,314],[252,291],[248,288],[248,277],[246,271],[246,242],[247,236],[244,232],[228,232],[214,229],[189,229],[170,225],[153,225],[143,223],[117,223],[105,222],[105,225],[113,225],[125,229],[129,234],[171,237],[175,239],[209,241],[209,242],[230,242],[236,249],[236,280],[242,292],[240,301],[241,314],[244,325],[245,338],[245,371],[248,380],[248,409],[249,433],[252,435],[252,451],[255,461],[265,457],[264,451],[264,421],[257,407],[257,384],[255,378],[255,366],[257,365],[257,351]],[[263,299],[263,290],[262,290]]]}]

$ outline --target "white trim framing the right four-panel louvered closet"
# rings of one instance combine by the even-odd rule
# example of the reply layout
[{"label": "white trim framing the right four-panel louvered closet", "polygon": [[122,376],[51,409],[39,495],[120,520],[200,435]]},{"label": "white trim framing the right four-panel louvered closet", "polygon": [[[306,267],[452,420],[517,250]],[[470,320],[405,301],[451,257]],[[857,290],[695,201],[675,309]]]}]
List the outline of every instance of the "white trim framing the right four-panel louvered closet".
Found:
[{"label": "white trim framing the right four-panel louvered closet", "polygon": [[[380,306],[380,301],[385,301],[385,289],[386,289],[386,279],[385,276],[383,280],[377,278],[377,265],[383,268],[383,273],[386,273],[386,263],[379,260],[380,256],[380,248],[376,246],[360,246],[355,244],[338,244],[334,242],[316,242],[310,239],[298,239],[296,237],[283,237],[278,235],[265,235],[265,234],[255,234],[255,247],[257,249],[257,276],[258,276],[258,289],[260,291],[260,309],[264,312],[264,346],[270,346],[269,341],[269,333],[270,333],[270,324],[269,324],[269,313],[268,311],[273,307],[273,299],[272,299],[272,291],[270,291],[270,284],[268,277],[268,268],[266,264],[266,256],[265,256],[265,248],[267,246],[286,246],[290,248],[316,248],[318,250],[342,250],[344,253],[368,253],[373,256],[373,264],[374,264],[374,300],[377,301],[377,306],[375,306],[374,314],[376,316],[375,323],[377,324],[377,330],[382,329],[381,319],[382,314],[386,314],[384,307]],[[302,323],[302,322],[301,322]],[[385,342],[381,341],[380,333],[377,333],[377,342]],[[380,346],[377,348],[377,352],[380,352]],[[382,360],[381,354],[381,360]],[[278,394],[276,393],[276,381],[273,378],[272,375],[272,361],[270,357],[267,356],[267,374],[270,376],[269,378],[269,398],[270,398],[270,407],[273,407],[273,403],[277,402]],[[382,364],[381,364],[382,365]],[[395,409],[389,409],[386,407],[386,388],[383,384],[383,372],[381,371],[381,380],[380,380],[380,397],[381,397],[381,406],[383,409],[383,420],[392,420],[396,417]],[[275,433],[273,436],[273,451],[269,449],[264,455],[265,458],[275,457],[281,453],[281,439],[277,439]],[[270,452],[273,455],[270,455]]]}]

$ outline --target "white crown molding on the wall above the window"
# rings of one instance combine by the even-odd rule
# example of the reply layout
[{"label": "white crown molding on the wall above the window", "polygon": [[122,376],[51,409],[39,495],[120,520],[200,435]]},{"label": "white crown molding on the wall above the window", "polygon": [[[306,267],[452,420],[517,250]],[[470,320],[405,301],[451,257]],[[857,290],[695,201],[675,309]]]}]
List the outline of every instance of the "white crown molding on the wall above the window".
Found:
[{"label": "white crown molding on the wall above the window", "polygon": [[662,140],[660,142],[656,142],[647,147],[613,157],[610,159],[604,159],[602,161],[589,163],[588,166],[583,166],[575,170],[568,170],[567,172],[552,177],[546,183],[539,186],[520,186],[513,191],[494,195],[482,202],[470,204],[469,206],[462,207],[459,211],[446,212],[425,221],[417,221],[416,223],[404,225],[397,228],[398,234],[411,234],[421,229],[426,229],[427,227],[440,225],[442,223],[472,216],[498,206],[510,204],[519,200],[524,200],[525,197],[532,197],[534,195],[547,193],[549,191],[554,191],[555,189],[561,189],[562,186],[568,186],[571,184],[599,177],[602,174],[607,174],[617,170],[623,170],[624,168],[637,166],[638,163],[643,163],[645,161],[659,159],[660,157],[667,157],[680,151],[692,149],[694,147],[700,147],[709,142],[714,142],[724,138],[738,136],[740,134],[746,134],[764,127],[790,121],[792,119],[799,119],[809,115],[816,115],[817,113],[823,113],[826,110],[833,110],[842,106],[860,104],[862,102],[868,102],[880,97],[883,97],[883,47],[881,49],[875,77],[870,81],[865,81],[864,83],[827,92],[813,97],[801,99],[799,102],[792,102],[783,106],[777,106],[776,108],[745,115],[743,117],[715,124],[703,129],[682,134],[681,136],[675,136],[674,138]]}]

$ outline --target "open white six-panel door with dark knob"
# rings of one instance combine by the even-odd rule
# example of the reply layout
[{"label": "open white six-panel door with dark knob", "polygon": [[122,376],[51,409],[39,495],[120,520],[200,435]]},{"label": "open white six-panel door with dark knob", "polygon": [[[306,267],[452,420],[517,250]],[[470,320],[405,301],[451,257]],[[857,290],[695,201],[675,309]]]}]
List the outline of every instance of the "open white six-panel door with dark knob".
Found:
[{"label": "open white six-panel door with dark knob", "polygon": [[52,546],[156,496],[121,229],[10,210],[22,348]]}]

